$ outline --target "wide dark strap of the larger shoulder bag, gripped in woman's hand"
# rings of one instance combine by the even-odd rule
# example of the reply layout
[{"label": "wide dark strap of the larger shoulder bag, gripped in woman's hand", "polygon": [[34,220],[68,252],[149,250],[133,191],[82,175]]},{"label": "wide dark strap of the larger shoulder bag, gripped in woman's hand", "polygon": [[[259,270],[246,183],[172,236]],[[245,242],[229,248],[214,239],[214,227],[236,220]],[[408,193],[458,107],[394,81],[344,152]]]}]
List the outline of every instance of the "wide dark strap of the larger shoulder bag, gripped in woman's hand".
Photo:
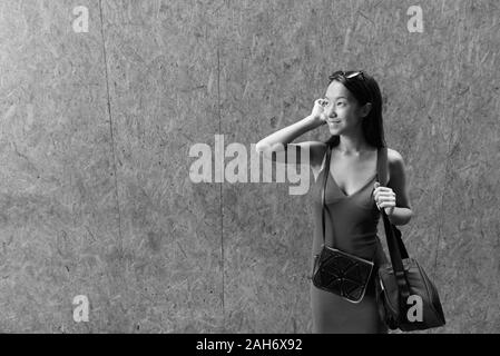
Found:
[{"label": "wide dark strap of the larger shoulder bag, gripped in woman's hand", "polygon": [[[380,149],[381,155],[379,155],[380,164],[378,165],[378,181],[381,186],[385,186],[385,180],[388,177],[388,148],[382,147]],[[403,267],[403,258],[409,258],[406,248],[404,247],[403,239],[401,238],[401,231],[389,220],[385,214],[385,208],[379,209],[382,214],[385,229],[385,238],[388,240],[389,254],[391,256],[391,264],[394,270],[394,275],[398,281],[398,289],[403,297],[403,300],[410,296],[408,277]],[[401,299],[400,299],[401,300]]]}]

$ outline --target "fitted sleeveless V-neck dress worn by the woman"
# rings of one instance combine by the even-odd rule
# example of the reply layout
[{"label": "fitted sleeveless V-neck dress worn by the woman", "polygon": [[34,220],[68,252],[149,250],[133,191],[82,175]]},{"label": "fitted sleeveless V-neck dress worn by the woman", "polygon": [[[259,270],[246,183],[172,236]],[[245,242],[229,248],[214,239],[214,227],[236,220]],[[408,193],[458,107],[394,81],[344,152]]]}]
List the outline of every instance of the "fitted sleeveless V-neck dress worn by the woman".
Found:
[{"label": "fitted sleeveless V-neck dress worn by the woman", "polygon": [[[381,149],[378,151],[378,166],[381,161]],[[325,245],[334,246],[345,253],[356,255],[374,261],[374,268],[366,286],[363,299],[351,303],[342,297],[316,288],[311,280],[311,307],[313,312],[313,333],[321,334],[376,334],[388,333],[384,322],[379,316],[375,301],[375,275],[378,267],[388,261],[378,236],[378,222],[380,211],[373,199],[374,174],[361,189],[346,196],[336,185],[330,171],[325,171],[325,157],[320,174],[314,182],[313,216],[314,239],[311,269],[313,269],[314,256],[320,253],[323,244],[322,235],[322,197],[321,189],[324,184],[324,175],[329,175],[325,187]],[[376,166],[376,167],[378,167]],[[332,165],[331,165],[332,167]],[[383,182],[380,182],[384,186]],[[332,221],[335,233],[333,245]]]}]

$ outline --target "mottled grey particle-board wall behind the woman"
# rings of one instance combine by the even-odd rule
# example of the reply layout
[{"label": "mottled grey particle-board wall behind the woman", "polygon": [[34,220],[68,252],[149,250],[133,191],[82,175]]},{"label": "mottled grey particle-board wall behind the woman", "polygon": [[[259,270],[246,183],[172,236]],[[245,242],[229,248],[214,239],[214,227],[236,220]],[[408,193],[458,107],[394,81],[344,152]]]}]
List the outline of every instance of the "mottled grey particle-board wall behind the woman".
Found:
[{"label": "mottled grey particle-board wall behind the woman", "polygon": [[[406,29],[413,4],[423,33]],[[0,10],[0,332],[310,333],[311,197],[193,184],[188,151],[216,134],[249,151],[336,69],[382,88],[415,212],[401,230],[448,319],[429,333],[500,332],[498,1]]]}]

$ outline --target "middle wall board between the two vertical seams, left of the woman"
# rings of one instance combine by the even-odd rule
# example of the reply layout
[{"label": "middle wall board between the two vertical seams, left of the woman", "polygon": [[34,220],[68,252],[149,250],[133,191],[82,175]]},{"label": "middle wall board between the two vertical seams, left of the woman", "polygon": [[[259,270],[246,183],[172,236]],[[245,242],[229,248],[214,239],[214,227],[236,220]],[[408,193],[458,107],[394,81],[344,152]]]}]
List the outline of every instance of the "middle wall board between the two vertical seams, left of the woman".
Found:
[{"label": "middle wall board between the two vertical seams, left of the woman", "polygon": [[219,186],[192,182],[188,156],[218,130],[212,10],[195,1],[104,7],[129,332],[223,327]]}]

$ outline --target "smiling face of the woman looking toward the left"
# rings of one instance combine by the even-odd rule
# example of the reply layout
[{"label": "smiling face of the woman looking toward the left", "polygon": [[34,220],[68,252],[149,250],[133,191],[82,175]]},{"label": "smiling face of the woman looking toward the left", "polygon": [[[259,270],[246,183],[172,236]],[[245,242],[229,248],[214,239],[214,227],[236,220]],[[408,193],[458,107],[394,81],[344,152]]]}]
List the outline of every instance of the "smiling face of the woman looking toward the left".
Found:
[{"label": "smiling face of the woman looking toward the left", "polygon": [[327,125],[332,135],[351,131],[361,123],[357,100],[340,81],[332,81],[326,89],[327,105],[324,107]]}]

